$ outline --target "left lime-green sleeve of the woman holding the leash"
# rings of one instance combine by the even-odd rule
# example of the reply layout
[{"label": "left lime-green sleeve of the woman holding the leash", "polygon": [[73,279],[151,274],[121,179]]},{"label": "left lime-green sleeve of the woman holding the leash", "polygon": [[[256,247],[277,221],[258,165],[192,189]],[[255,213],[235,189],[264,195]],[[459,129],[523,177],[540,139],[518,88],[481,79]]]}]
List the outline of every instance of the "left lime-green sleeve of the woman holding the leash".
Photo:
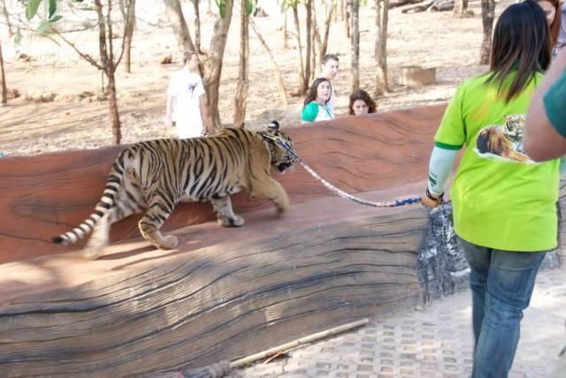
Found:
[{"label": "left lime-green sleeve of the woman holding the leash", "polygon": [[456,89],[452,101],[448,104],[440,127],[434,136],[434,146],[444,149],[458,150],[466,142],[466,125],[463,119],[464,87]]}]

